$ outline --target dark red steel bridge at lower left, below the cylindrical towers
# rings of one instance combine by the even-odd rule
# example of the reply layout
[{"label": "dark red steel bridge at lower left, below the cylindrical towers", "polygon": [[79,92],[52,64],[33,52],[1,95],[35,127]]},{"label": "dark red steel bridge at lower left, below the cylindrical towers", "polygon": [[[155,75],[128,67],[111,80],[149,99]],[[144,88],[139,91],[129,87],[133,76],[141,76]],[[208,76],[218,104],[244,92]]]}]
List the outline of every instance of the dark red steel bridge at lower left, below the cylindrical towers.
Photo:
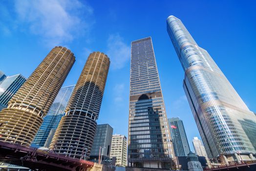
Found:
[{"label": "dark red steel bridge at lower left, below the cylindrical towers", "polygon": [[86,171],[94,162],[66,157],[52,151],[0,142],[0,161],[37,171]]}]

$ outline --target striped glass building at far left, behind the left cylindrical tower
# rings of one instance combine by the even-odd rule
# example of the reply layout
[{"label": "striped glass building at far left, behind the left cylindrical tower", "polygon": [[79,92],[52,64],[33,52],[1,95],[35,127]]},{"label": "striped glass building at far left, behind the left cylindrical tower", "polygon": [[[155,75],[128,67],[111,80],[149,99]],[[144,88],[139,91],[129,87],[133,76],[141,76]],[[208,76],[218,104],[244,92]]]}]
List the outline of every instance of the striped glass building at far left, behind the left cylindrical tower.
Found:
[{"label": "striped glass building at far left, behind the left cylindrical tower", "polygon": [[4,76],[1,76],[0,73],[0,105],[3,108],[7,107],[10,99],[26,81],[25,77],[23,77],[21,74],[8,77],[5,76],[6,78],[4,78]]}]

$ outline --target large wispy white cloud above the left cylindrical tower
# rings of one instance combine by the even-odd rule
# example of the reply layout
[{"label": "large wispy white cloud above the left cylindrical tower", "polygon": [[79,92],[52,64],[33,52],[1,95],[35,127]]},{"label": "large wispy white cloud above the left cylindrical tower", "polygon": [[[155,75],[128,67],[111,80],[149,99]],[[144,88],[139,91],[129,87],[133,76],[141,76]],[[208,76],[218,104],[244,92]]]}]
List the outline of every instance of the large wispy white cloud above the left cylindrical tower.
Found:
[{"label": "large wispy white cloud above the left cylindrical tower", "polygon": [[84,35],[93,23],[93,9],[78,0],[16,0],[15,11],[17,23],[28,24],[49,46]]}]

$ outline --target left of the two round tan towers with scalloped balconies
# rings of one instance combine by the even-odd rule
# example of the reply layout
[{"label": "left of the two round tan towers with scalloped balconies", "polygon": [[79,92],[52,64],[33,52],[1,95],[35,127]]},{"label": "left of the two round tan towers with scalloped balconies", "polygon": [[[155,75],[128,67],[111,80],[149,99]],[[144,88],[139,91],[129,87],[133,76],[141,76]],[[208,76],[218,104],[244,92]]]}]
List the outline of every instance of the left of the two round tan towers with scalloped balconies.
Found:
[{"label": "left of the two round tan towers with scalloped balconies", "polygon": [[[0,141],[29,146],[75,62],[65,47],[54,47],[0,111]],[[6,123],[7,122],[7,123]]]}]

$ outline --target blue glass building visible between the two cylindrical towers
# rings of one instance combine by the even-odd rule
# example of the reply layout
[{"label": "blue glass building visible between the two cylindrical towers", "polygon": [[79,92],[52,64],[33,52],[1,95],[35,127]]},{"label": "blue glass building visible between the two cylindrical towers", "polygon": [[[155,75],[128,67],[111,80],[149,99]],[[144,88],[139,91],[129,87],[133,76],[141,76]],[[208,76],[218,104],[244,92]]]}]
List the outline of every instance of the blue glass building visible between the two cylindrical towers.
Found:
[{"label": "blue glass building visible between the two cylindrical towers", "polygon": [[49,148],[56,128],[65,114],[65,108],[74,87],[75,85],[70,85],[60,89],[47,115],[43,117],[43,124],[40,127],[33,143],[41,147]]}]

